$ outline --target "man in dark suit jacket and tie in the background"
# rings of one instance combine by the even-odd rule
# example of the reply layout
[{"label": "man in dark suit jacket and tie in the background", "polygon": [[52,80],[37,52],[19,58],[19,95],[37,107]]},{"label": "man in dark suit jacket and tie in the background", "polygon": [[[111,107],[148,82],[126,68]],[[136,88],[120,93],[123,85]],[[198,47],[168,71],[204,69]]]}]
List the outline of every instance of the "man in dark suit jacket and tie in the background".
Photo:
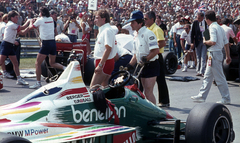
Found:
[{"label": "man in dark suit jacket and tie in the background", "polygon": [[196,48],[197,58],[197,76],[204,76],[206,67],[207,47],[203,44],[203,32],[207,29],[207,23],[204,20],[204,14],[197,13],[197,20],[193,22],[191,33],[191,49]]}]

